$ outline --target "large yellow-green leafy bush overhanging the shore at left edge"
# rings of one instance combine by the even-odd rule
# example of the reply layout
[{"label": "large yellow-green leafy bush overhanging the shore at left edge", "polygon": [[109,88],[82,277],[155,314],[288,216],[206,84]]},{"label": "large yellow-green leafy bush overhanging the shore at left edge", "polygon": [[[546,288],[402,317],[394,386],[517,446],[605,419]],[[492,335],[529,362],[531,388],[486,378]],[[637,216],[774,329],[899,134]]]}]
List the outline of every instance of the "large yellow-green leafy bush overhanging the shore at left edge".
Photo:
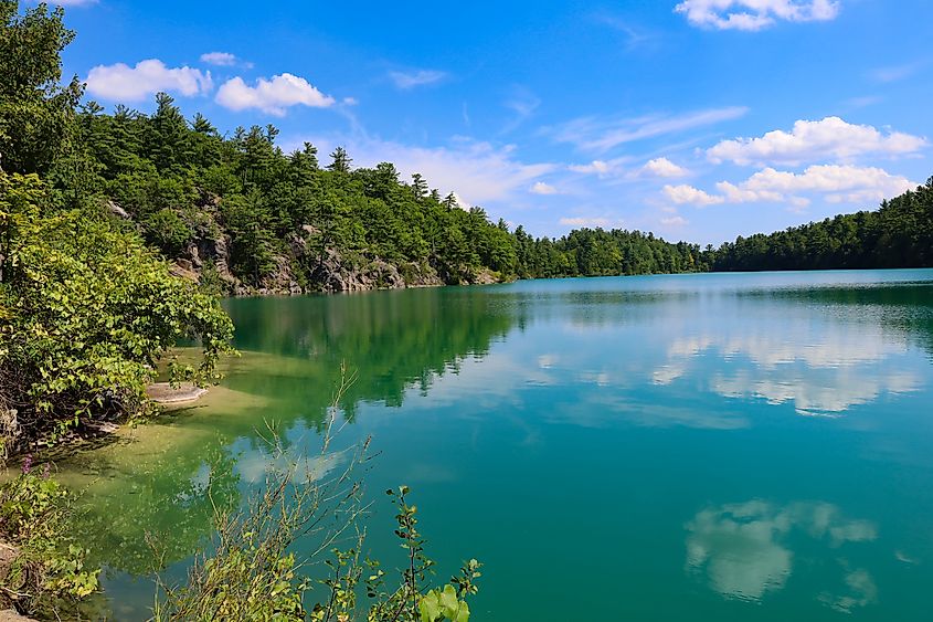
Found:
[{"label": "large yellow-green leafy bush overhanging the shore at left edge", "polygon": [[51,210],[35,176],[0,172],[0,380],[25,440],[142,413],[156,365],[179,339],[200,339],[204,357],[198,369],[172,366],[173,379],[213,379],[233,333],[214,299],[172,277],[134,233]]}]

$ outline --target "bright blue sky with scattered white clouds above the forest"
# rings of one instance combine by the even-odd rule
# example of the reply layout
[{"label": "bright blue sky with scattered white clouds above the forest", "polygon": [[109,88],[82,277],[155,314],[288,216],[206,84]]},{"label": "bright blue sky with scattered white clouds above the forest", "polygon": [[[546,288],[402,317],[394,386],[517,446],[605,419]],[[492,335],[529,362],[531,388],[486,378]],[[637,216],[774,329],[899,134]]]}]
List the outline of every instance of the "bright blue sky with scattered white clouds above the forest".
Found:
[{"label": "bright blue sky with scattered white clouds above the forest", "polygon": [[933,175],[929,0],[62,3],[107,107],[167,91],[536,234],[719,243]]}]

